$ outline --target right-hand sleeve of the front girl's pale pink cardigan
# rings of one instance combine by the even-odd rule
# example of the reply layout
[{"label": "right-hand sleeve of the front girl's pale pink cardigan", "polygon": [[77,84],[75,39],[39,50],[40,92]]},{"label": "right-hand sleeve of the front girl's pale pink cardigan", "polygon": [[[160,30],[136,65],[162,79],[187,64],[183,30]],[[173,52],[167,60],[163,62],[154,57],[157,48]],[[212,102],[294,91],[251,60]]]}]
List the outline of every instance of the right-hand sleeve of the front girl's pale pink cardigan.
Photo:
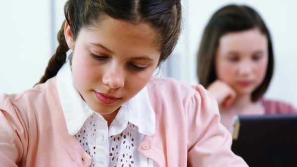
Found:
[{"label": "right-hand sleeve of the front girl's pale pink cardigan", "polygon": [[202,87],[185,104],[188,117],[188,166],[248,166],[231,150],[232,137],[220,124],[215,99]]}]

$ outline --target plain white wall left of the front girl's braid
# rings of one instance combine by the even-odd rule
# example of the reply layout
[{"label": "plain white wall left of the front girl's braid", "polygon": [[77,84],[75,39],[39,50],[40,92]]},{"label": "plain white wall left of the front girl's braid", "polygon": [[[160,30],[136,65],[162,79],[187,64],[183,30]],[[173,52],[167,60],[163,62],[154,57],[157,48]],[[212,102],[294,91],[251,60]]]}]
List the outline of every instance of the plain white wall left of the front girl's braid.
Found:
[{"label": "plain white wall left of the front girl's braid", "polygon": [[0,93],[32,88],[43,74],[50,57],[49,10],[49,1],[0,3]]}]

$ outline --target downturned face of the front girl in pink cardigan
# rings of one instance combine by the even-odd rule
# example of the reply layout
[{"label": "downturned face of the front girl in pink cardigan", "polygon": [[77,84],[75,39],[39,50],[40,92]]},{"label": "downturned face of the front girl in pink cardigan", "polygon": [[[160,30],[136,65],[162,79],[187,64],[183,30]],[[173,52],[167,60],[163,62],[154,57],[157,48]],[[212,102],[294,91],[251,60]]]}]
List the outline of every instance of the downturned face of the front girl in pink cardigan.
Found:
[{"label": "downturned face of the front girl in pink cardigan", "polygon": [[109,17],[81,30],[73,44],[72,75],[94,111],[111,114],[144,88],[161,55],[157,36],[148,24]]}]

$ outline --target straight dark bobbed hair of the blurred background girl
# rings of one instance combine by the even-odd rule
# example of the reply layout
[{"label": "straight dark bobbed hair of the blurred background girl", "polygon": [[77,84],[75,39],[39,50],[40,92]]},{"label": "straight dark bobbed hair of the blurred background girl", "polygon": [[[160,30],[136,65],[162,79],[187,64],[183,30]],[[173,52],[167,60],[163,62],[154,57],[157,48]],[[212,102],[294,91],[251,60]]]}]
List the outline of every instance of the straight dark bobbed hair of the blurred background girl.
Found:
[{"label": "straight dark bobbed hair of the blurred background girl", "polygon": [[252,93],[252,101],[258,101],[266,92],[273,75],[272,40],[264,21],[260,15],[248,6],[228,5],[213,14],[206,25],[197,58],[197,74],[199,83],[207,88],[217,76],[215,73],[215,54],[221,36],[257,28],[267,37],[268,65],[262,84]]}]

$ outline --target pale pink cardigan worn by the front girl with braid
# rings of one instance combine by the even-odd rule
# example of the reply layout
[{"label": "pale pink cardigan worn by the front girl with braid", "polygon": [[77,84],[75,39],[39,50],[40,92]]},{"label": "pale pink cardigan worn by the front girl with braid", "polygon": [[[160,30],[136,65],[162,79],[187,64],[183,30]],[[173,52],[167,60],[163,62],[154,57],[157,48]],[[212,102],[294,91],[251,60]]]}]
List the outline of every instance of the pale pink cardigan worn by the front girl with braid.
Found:
[{"label": "pale pink cardigan worn by the front girl with braid", "polygon": [[[156,133],[137,148],[160,166],[247,166],[231,151],[216,102],[171,79],[147,85]],[[0,97],[0,166],[90,166],[91,157],[68,134],[56,78],[19,95]]]}]

